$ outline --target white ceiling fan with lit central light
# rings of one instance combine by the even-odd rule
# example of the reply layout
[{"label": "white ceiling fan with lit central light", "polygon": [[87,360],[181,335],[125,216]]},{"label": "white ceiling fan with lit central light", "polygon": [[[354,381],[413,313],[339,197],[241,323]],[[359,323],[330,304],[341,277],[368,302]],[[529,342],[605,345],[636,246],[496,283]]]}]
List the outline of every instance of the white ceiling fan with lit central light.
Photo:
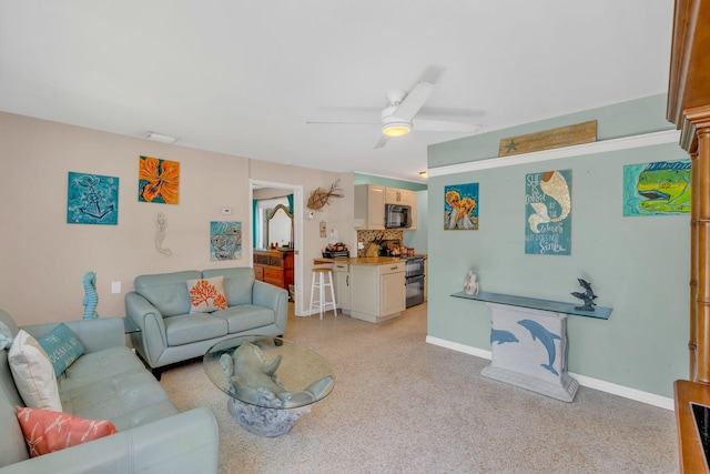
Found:
[{"label": "white ceiling fan with lit central light", "polygon": [[[379,127],[382,135],[375,144],[375,148],[382,148],[387,144],[389,138],[403,137],[412,130],[443,131],[475,133],[481,125],[452,122],[446,120],[415,119],[416,114],[424,107],[426,101],[432,97],[436,85],[429,82],[418,82],[410,92],[404,89],[389,89],[385,97],[389,105],[383,109],[379,114]],[[377,124],[376,122],[315,122],[306,123],[331,123],[331,124]]]}]

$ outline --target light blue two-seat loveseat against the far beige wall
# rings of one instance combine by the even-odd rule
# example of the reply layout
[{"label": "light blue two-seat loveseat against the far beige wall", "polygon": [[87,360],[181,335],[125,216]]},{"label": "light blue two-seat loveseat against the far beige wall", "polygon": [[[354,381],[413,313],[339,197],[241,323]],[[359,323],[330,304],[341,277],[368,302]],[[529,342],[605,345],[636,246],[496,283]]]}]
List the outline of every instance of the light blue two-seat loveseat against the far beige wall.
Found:
[{"label": "light blue two-seat loveseat against the far beige wall", "polygon": [[[190,314],[187,280],[220,275],[227,309]],[[286,331],[288,292],[256,281],[247,266],[141,275],[133,288],[125,294],[125,314],[140,331],[131,340],[159,380],[162,367],[201,357],[224,339]]]}]

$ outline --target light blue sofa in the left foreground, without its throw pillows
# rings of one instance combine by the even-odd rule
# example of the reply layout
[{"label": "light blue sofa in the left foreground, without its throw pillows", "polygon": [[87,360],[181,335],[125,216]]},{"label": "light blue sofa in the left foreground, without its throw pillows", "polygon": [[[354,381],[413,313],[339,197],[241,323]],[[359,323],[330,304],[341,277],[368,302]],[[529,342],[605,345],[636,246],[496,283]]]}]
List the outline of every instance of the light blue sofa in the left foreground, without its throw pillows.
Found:
[{"label": "light blue sofa in the left foreground, without its throw pillows", "polygon": [[[0,310],[0,321],[18,326]],[[83,418],[110,420],[119,431],[100,440],[29,457],[16,405],[24,406],[0,350],[0,474],[10,473],[216,473],[219,431],[205,407],[184,413],[125,346],[123,320],[65,322],[84,355],[58,379],[62,411]],[[57,324],[22,327],[36,339]]]}]

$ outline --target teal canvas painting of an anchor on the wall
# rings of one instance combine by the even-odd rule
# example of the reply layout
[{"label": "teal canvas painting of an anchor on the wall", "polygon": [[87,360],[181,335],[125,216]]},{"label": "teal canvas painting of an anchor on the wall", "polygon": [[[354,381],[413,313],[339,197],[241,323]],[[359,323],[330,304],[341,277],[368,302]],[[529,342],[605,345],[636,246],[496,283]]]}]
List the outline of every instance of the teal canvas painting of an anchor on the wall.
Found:
[{"label": "teal canvas painting of an anchor on the wall", "polygon": [[67,223],[116,225],[119,223],[119,179],[70,171]]}]

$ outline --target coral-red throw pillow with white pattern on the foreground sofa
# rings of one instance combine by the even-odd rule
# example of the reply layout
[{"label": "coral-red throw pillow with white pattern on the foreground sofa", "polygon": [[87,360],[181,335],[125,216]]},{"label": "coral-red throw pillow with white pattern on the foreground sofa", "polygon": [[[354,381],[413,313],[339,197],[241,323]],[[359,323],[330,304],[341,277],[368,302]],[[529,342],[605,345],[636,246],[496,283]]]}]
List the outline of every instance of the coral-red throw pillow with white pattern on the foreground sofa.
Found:
[{"label": "coral-red throw pillow with white pattern on the foreground sofa", "polygon": [[17,416],[32,457],[118,433],[108,420],[83,420],[49,410],[18,406]]}]

